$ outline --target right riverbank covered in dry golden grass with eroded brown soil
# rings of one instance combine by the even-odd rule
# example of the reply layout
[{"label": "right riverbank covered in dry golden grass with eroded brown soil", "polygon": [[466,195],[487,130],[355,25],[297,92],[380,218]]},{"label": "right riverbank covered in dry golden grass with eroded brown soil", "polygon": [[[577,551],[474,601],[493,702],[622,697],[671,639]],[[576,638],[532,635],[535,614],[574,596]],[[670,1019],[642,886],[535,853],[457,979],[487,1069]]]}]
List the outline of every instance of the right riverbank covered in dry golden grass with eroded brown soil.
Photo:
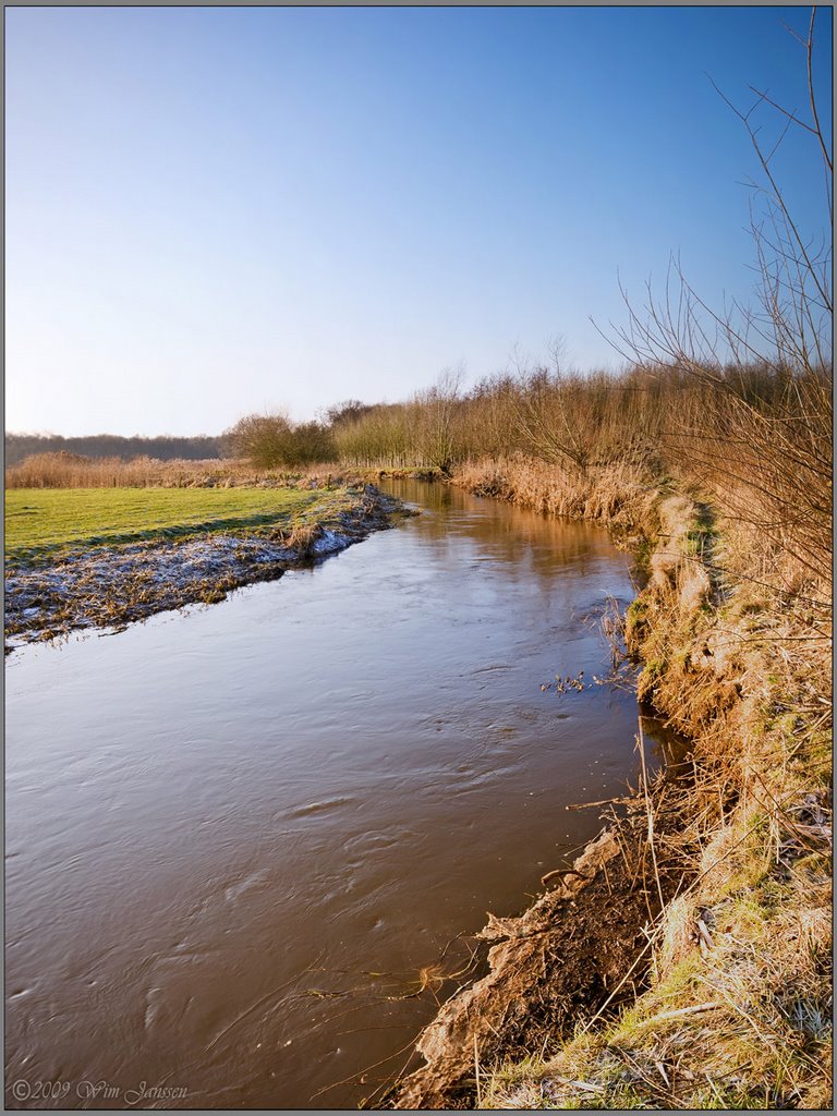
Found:
[{"label": "right riverbank covered in dry golden grass with eroded brown soil", "polygon": [[634,550],[622,635],[692,770],[644,788],[522,917],[491,916],[491,972],[389,1104],[830,1107],[830,590],[641,466],[487,461],[452,482]]}]

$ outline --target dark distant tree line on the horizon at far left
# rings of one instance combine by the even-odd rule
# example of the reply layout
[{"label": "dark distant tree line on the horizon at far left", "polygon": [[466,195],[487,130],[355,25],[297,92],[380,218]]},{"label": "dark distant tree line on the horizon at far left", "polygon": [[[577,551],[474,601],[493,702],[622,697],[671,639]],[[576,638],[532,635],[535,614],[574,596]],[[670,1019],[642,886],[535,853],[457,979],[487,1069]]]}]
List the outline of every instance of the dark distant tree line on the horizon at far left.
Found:
[{"label": "dark distant tree line on the horizon at far left", "polygon": [[32,453],[79,453],[86,458],[133,458],[148,456],[161,461],[174,459],[201,461],[220,458],[220,437],[119,437],[117,434],[93,434],[86,437],[62,437],[60,434],[7,434],[6,464],[20,464]]}]

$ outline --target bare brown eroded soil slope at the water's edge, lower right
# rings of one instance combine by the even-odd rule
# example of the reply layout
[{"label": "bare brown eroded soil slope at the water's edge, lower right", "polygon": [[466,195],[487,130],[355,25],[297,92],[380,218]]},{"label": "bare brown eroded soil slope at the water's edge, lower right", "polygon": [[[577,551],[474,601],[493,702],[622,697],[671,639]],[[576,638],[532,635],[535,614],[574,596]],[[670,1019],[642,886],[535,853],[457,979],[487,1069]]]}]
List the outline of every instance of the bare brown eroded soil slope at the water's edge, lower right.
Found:
[{"label": "bare brown eroded soil slope at the water's edge, lower right", "polygon": [[[675,812],[655,818],[655,833]],[[551,879],[550,879],[551,877]],[[573,864],[548,873],[559,886],[517,918],[489,916],[490,972],[461,990],[423,1031],[426,1065],[397,1083],[393,1108],[474,1108],[478,1074],[535,1051],[549,1055],[579,1019],[633,1002],[648,970],[645,927],[683,878],[680,859],[654,870],[643,800],[628,805]]]}]

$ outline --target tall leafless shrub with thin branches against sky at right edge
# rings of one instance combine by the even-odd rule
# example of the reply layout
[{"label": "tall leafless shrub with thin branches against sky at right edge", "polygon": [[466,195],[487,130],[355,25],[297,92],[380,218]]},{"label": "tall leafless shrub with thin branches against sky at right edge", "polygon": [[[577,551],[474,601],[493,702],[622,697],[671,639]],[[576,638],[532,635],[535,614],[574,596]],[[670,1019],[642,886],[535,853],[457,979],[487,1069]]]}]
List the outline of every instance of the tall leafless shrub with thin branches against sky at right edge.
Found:
[{"label": "tall leafless shrub with thin branches against sky at right edge", "polygon": [[[756,99],[745,110],[720,94],[760,169],[751,203],[757,304],[714,309],[673,260],[662,297],[648,285],[642,311],[620,285],[627,325],[612,343],[641,366],[685,371],[704,385],[690,421],[672,423],[690,468],[730,516],[830,586],[833,259],[827,235],[806,231],[811,214],[795,211],[778,170],[791,131],[809,141],[822,173],[822,225],[830,229],[833,160],[812,71],[816,15],[814,8],[807,39],[797,36],[807,64],[807,118],[752,87]],[[760,112],[778,122],[772,142]]]}]

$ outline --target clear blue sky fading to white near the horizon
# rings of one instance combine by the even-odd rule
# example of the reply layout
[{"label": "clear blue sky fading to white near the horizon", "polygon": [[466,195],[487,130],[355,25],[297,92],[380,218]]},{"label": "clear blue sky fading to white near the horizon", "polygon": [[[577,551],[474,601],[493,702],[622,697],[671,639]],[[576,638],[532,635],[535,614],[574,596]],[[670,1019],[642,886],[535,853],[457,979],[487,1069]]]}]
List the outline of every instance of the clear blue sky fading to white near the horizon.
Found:
[{"label": "clear blue sky fading to white near the horizon", "polygon": [[[7,8],[7,430],[305,421],[446,368],[469,386],[555,339],[580,371],[620,367],[599,331],[626,321],[619,282],[642,306],[672,253],[710,304],[749,299],[758,167],[709,78],[807,113],[782,23],[809,18]],[[816,225],[809,154],[791,134],[780,166]]]}]

